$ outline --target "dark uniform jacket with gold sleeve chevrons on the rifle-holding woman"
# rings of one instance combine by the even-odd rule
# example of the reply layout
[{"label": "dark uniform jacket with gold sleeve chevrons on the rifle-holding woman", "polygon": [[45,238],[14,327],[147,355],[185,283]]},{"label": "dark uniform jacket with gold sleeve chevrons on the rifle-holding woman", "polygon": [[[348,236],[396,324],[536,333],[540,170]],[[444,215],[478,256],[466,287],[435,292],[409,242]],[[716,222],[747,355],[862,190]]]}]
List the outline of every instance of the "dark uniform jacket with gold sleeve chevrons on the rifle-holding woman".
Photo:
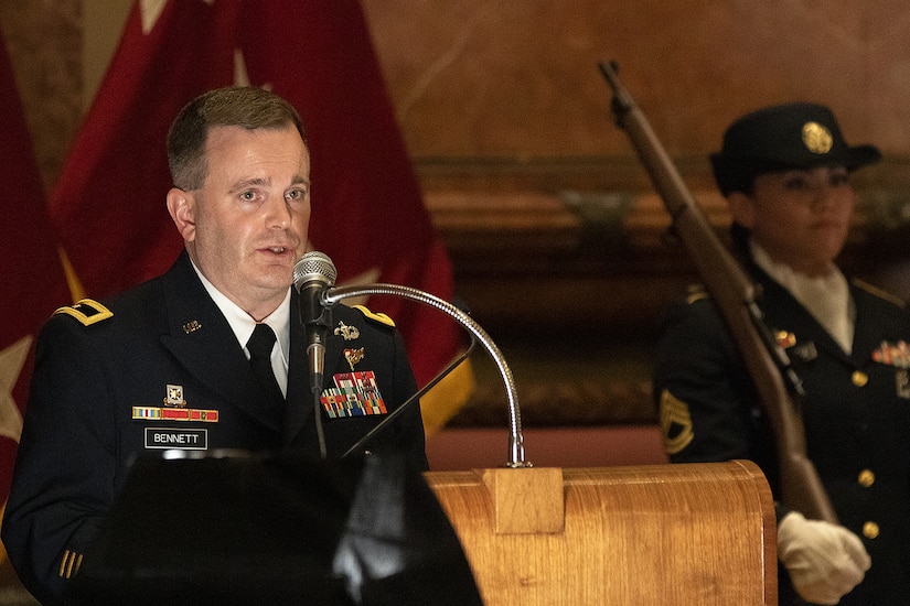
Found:
[{"label": "dark uniform jacket with gold sleeve chevrons on the rifle-holding woman", "polygon": [[[841,604],[910,604],[910,350],[900,353],[910,343],[910,314],[884,293],[852,283],[856,329],[847,355],[785,289],[753,264],[749,271],[761,284],[767,324],[805,389],[809,457],[841,523],[871,556],[865,581]],[[751,459],[777,494],[770,429],[704,293],[671,311],[654,364],[671,461]]]}]

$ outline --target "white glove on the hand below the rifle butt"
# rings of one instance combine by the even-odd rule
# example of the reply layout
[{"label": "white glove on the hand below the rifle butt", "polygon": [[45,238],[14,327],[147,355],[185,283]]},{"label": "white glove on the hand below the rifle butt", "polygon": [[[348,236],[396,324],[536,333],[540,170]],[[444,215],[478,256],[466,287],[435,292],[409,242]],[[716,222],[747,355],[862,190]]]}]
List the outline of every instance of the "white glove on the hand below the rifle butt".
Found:
[{"label": "white glove on the hand below the rifle butt", "polygon": [[871,564],[859,537],[842,526],[806,520],[799,511],[778,524],[778,558],[800,596],[814,604],[841,602]]}]

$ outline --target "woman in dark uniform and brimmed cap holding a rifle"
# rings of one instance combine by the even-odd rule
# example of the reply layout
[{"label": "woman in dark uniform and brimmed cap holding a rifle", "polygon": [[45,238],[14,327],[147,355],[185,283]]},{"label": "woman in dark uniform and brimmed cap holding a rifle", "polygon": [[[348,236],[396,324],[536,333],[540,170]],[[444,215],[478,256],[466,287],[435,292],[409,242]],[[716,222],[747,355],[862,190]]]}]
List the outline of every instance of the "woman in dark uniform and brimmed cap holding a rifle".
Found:
[{"label": "woman in dark uniform and brimmed cap holding a rifle", "polygon": [[[843,524],[779,507],[781,604],[794,588],[817,604],[910,604],[910,314],[834,263],[854,212],[849,175],[879,158],[847,145],[814,104],[740,118],[711,156],[735,248],[803,382],[807,455]],[[654,396],[673,462],[752,459],[777,494],[771,428],[704,292],[668,314]]]}]

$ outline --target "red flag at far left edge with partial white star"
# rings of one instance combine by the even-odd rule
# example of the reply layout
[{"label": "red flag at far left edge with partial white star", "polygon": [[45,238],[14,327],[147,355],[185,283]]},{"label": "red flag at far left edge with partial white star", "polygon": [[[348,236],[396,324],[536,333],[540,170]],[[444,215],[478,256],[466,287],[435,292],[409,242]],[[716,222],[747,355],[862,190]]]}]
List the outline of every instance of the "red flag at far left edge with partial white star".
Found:
[{"label": "red flag at far left edge with partial white star", "polygon": [[34,361],[34,338],[54,310],[71,301],[2,35],[0,141],[6,181],[0,196],[0,502],[6,502]]}]

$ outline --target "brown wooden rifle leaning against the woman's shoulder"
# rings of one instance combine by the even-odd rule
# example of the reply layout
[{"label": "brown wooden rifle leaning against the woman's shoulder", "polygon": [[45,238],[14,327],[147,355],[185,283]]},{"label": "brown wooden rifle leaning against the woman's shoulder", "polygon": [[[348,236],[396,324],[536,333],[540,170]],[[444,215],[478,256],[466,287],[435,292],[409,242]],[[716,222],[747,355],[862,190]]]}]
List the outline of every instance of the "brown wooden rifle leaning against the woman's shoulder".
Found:
[{"label": "brown wooden rifle leaning against the woman's shoulder", "polygon": [[[674,234],[683,241],[705,288],[717,305],[754,382],[759,401],[774,435],[781,476],[781,501],[807,518],[837,523],[815,466],[806,456],[805,430],[799,402],[802,383],[762,320],[757,286],[710,228],[679,173],[654,134],[631,94],[623,88],[612,62],[600,71],[613,90],[612,109],[664,201]],[[784,385],[784,377],[790,388]]]}]

